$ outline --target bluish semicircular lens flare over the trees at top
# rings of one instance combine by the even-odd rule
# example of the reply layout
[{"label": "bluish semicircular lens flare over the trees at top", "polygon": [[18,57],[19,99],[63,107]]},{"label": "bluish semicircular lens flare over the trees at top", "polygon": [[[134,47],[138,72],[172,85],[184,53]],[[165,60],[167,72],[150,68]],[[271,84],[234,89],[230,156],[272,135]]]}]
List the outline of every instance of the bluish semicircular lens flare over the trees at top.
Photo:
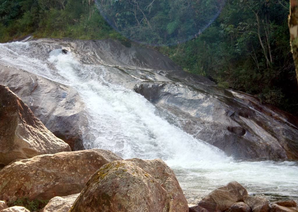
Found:
[{"label": "bluish semicircular lens flare over the trees at top", "polygon": [[218,17],[225,0],[95,0],[105,20],[138,43],[176,45],[198,36]]}]

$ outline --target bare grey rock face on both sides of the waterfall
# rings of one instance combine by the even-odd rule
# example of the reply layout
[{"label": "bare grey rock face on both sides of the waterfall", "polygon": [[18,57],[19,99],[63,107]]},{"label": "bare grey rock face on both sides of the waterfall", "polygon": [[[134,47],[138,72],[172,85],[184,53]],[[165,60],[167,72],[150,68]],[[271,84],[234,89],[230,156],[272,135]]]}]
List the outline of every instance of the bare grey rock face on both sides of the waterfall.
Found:
[{"label": "bare grey rock face on both sides of the waterfall", "polygon": [[[207,78],[184,72],[158,51],[128,48],[112,40],[39,39],[29,42],[34,47],[32,51],[38,52],[38,57],[43,59],[48,58],[49,51],[62,48],[72,52],[82,63],[105,65],[106,81],[134,89],[157,109],[175,116],[174,124],[228,156],[298,158],[297,117],[263,105],[251,95],[217,87]],[[24,99],[56,136],[68,142],[72,149],[81,149],[82,132],[77,126],[79,123],[88,126],[88,121],[83,112],[84,103],[76,92],[71,87],[22,70],[11,70],[0,68],[4,76],[0,83]],[[47,85],[51,88],[48,93],[43,92]]]}]

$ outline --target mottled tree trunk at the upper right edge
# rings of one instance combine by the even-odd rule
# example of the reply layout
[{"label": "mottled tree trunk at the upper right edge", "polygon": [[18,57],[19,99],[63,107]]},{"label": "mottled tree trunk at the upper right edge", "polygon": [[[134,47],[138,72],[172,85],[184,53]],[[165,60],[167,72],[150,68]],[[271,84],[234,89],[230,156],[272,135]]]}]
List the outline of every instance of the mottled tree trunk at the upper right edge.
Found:
[{"label": "mottled tree trunk at the upper right edge", "polygon": [[290,29],[290,45],[293,53],[296,77],[298,82],[298,0],[291,0],[289,29]]}]

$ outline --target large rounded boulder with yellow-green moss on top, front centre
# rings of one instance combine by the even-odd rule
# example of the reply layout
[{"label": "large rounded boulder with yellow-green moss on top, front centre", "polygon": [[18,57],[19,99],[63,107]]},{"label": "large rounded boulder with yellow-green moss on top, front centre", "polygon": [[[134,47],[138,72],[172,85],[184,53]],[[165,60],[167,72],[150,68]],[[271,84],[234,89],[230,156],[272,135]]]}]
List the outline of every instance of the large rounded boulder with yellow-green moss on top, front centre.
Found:
[{"label": "large rounded boulder with yellow-green moss on top, front centre", "polygon": [[[169,183],[173,178],[156,173],[162,171],[162,161],[148,161],[148,164],[133,161],[114,161],[101,167],[90,178],[70,212],[188,211],[185,197],[176,195],[175,191],[179,189],[173,189],[179,184],[173,184],[171,189]],[[157,170],[153,171],[150,164],[159,164],[161,167],[156,167]],[[138,165],[148,168],[153,176]],[[169,181],[163,181],[165,179]]]}]

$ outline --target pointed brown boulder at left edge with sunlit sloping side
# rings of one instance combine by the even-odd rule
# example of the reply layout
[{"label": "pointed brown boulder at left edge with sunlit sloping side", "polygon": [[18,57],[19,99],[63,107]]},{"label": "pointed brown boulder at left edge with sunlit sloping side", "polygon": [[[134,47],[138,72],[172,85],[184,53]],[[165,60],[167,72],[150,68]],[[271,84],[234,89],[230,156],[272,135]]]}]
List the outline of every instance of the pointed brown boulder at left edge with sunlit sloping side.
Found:
[{"label": "pointed brown boulder at left edge with sunlit sloping side", "polygon": [[71,151],[8,87],[0,85],[0,164]]}]

